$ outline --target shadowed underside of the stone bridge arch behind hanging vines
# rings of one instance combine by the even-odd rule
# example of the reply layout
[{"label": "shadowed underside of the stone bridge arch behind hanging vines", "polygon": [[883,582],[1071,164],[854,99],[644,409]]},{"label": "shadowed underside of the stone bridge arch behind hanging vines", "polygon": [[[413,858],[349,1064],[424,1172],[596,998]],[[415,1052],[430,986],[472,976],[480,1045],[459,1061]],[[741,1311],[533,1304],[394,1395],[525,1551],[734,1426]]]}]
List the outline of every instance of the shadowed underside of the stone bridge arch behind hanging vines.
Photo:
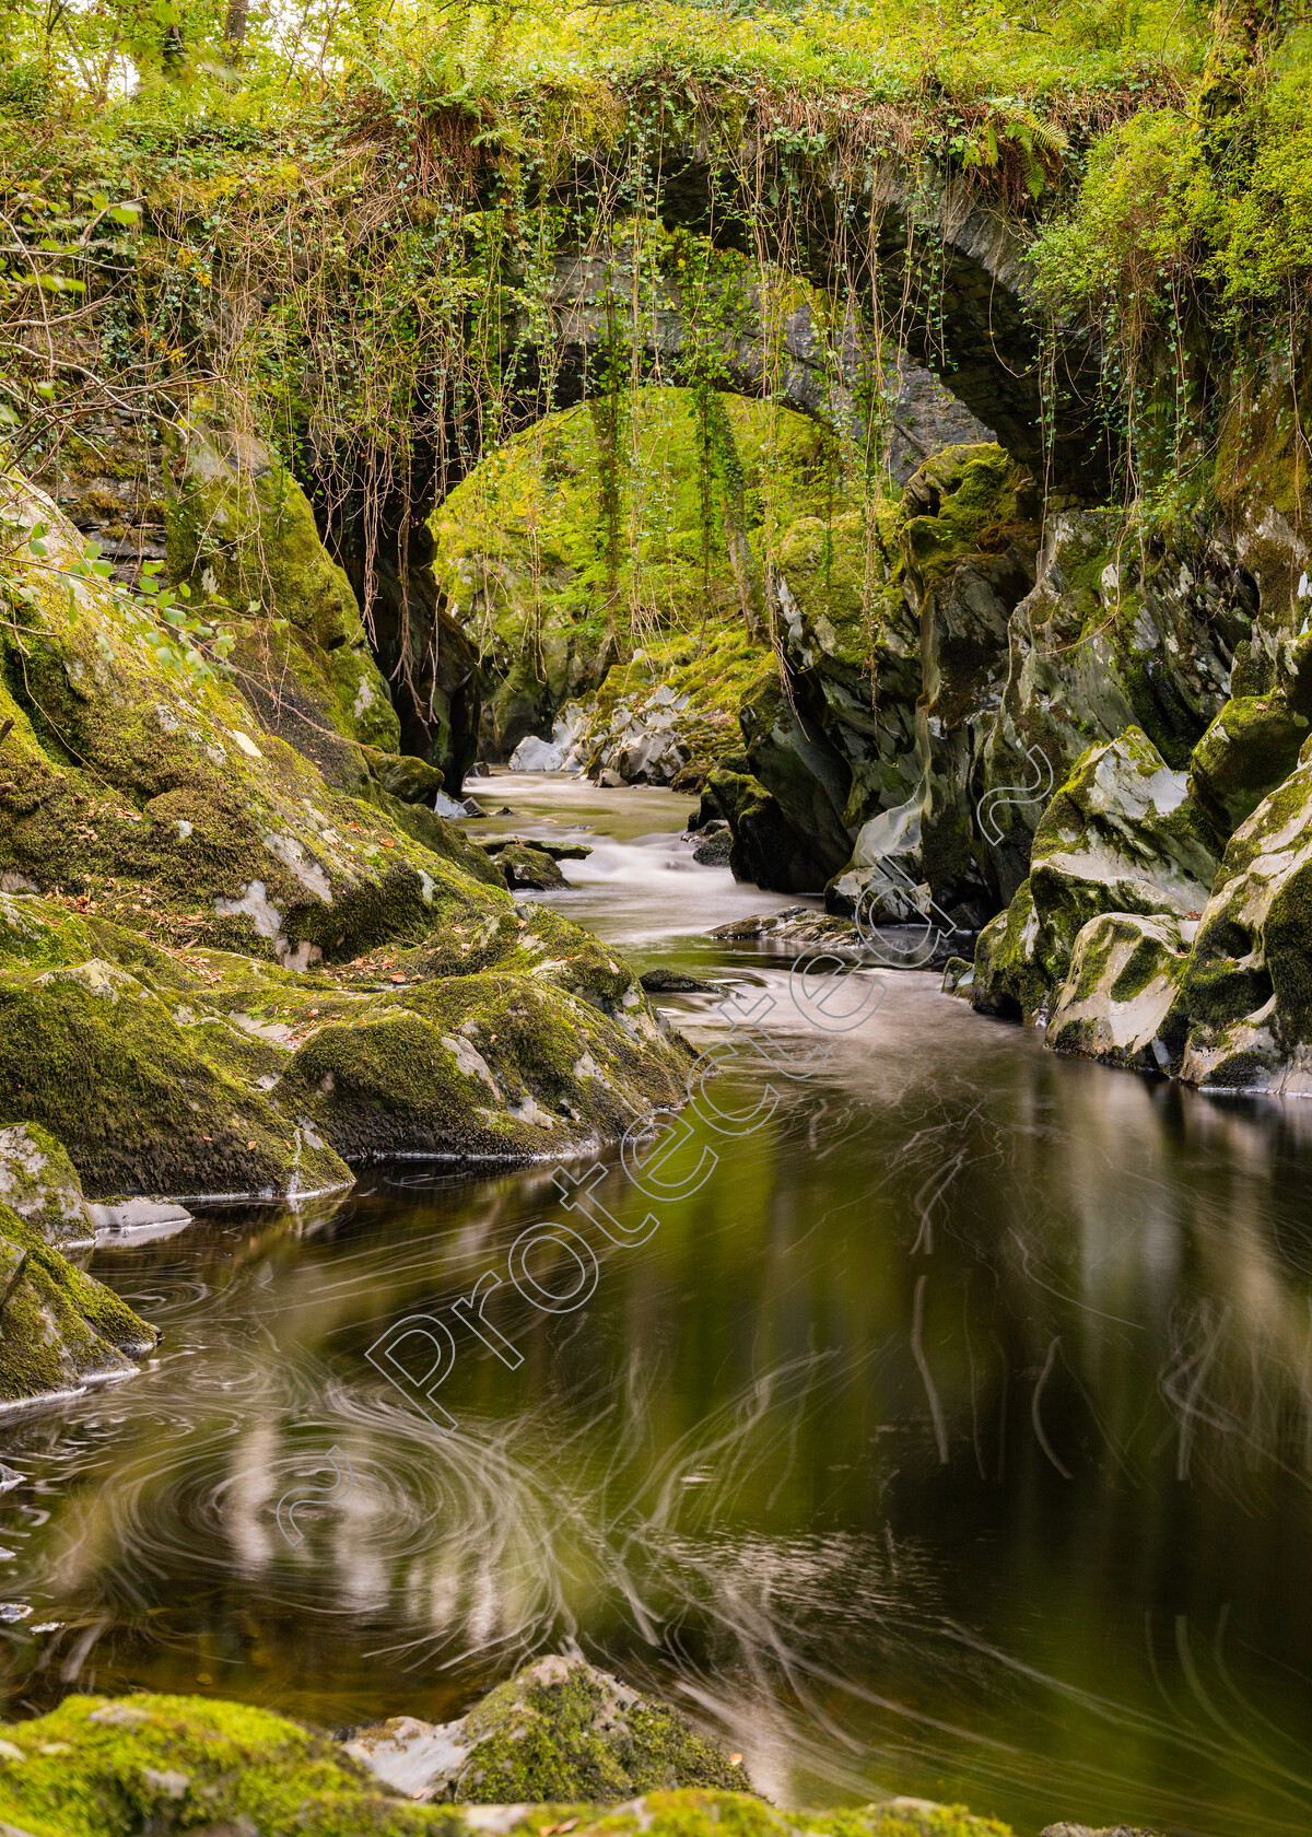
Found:
[{"label": "shadowed underside of the stone bridge arch behind hanging vines", "polygon": [[[575,167],[559,191],[595,198],[614,193],[612,178]],[[1106,494],[1097,351],[1073,336],[1044,355],[1024,246],[1001,213],[963,182],[908,178],[893,162],[869,165],[854,204],[851,187],[840,195],[820,180],[807,206],[785,246],[775,224],[753,217],[742,182],[687,149],[641,209],[612,211],[588,244],[562,239],[531,287],[524,272],[505,276],[496,415],[478,391],[439,406],[406,476],[382,490],[362,485],[325,527],[371,614],[408,751],[435,757],[441,729],[439,762],[458,781],[476,749],[476,658],[439,603],[434,507],[489,441],[594,393],[617,342],[632,382],[698,375],[858,445],[880,417],[882,437],[897,437],[899,397],[933,377],[959,404],[946,439],[998,439],[1047,489],[1084,502]]]}]

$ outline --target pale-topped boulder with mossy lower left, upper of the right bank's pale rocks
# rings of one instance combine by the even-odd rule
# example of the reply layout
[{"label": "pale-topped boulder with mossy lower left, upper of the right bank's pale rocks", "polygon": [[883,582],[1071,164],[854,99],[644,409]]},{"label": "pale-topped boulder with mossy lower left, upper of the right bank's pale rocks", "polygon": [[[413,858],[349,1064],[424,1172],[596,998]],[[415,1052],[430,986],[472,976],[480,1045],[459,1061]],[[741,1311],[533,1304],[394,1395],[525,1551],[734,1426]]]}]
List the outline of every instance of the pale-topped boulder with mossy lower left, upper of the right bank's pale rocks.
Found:
[{"label": "pale-topped boulder with mossy lower left, upper of the right bank's pale rocks", "polygon": [[1185,773],[1145,733],[1130,727],[1090,748],[1044,812],[1029,878],[976,942],[974,1005],[1046,1016],[1090,918],[1198,918],[1216,865],[1215,834]]}]

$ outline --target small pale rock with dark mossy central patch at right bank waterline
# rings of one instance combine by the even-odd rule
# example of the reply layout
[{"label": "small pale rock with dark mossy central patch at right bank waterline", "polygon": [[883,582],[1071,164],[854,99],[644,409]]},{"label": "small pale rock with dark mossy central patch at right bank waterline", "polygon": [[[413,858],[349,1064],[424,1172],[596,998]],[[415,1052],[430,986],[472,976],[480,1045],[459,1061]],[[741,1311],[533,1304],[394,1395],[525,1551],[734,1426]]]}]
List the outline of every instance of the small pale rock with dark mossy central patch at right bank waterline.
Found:
[{"label": "small pale rock with dark mossy central patch at right bank waterline", "polygon": [[1180,1069],[1180,988],[1196,926],[1104,913],[1080,930],[1057,992],[1047,1045],[1128,1071]]}]

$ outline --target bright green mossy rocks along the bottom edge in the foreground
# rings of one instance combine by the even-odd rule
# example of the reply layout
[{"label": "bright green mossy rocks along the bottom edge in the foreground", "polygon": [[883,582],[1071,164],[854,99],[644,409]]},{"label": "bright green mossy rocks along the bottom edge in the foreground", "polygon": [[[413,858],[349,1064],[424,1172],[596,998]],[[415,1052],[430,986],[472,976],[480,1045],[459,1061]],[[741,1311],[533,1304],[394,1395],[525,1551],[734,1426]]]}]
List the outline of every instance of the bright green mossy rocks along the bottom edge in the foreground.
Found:
[{"label": "bright green mossy rocks along the bottom edge in the foreground", "polygon": [[[478,1795],[474,1815],[463,1804],[417,1802],[377,1778],[351,1751],[358,1743],[342,1749],[272,1710],[79,1696],[0,1730],[0,1820],[24,1837],[1011,1837],[996,1819],[922,1798],[779,1811],[750,1791],[706,1784],[741,1769],[674,1710],[579,1661],[546,1661],[555,1672],[544,1681],[542,1662],[465,1718],[474,1725],[483,1716],[503,1732],[515,1723],[535,1756],[518,1765],[518,1800]],[[575,1712],[592,1696],[584,1727]],[[652,1771],[673,1784],[617,1797],[621,1780]],[[559,1797],[544,1797],[544,1784],[559,1786]],[[581,1784],[605,1797],[584,1797]]]}]

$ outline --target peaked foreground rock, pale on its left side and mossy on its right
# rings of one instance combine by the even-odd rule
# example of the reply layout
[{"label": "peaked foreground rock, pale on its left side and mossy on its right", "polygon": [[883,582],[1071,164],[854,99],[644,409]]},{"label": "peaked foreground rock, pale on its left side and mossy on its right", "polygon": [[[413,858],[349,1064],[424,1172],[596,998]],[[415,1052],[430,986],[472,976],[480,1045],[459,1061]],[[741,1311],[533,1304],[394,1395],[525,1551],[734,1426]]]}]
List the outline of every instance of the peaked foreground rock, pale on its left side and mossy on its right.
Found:
[{"label": "peaked foreground rock, pale on its left side and mossy on its right", "polygon": [[577,1657],[538,1659],[459,1723],[406,1718],[358,1730],[347,1752],[391,1784],[423,1775],[424,1798],[465,1804],[617,1802],[750,1784],[676,1710]]}]

